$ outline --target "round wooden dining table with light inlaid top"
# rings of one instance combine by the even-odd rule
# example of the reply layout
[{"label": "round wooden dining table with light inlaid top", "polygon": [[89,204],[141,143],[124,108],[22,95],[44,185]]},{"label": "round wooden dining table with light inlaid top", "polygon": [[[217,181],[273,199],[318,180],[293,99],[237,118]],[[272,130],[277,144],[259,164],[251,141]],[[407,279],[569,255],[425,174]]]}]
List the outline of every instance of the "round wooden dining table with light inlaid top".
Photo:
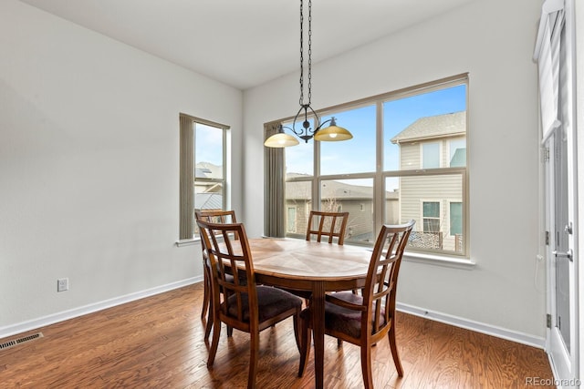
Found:
[{"label": "round wooden dining table with light inlaid top", "polygon": [[312,292],[315,386],[324,384],[325,294],[365,285],[371,250],[298,239],[249,240],[258,283]]}]

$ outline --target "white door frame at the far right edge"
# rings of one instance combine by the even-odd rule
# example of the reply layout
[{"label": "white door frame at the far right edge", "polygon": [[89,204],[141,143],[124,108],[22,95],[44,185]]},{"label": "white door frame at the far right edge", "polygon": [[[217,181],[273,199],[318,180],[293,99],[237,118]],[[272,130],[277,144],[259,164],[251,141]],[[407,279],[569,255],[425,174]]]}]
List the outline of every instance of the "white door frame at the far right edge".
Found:
[{"label": "white door frame at the far right edge", "polygon": [[[583,81],[578,81],[576,74],[576,57],[579,55],[580,58],[584,57],[584,49],[582,48],[582,40],[584,39],[584,32],[582,31],[582,26],[579,30],[576,28],[576,14],[579,16],[584,15],[584,9],[582,5],[578,5],[576,8],[575,0],[564,0],[564,15],[565,15],[565,41],[562,41],[566,53],[563,58],[565,59],[565,64],[562,64],[563,77],[565,77],[565,83],[563,83],[564,92],[559,91],[562,96],[563,102],[562,107],[558,107],[558,110],[563,109],[563,119],[565,123],[562,126],[565,127],[566,137],[568,141],[567,145],[567,157],[568,157],[568,220],[572,223],[572,234],[568,235],[568,247],[573,252],[573,261],[570,262],[570,357],[569,366],[561,364],[560,358],[562,355],[558,353],[557,350],[552,349],[552,336],[554,336],[555,327],[555,295],[552,295],[555,288],[555,256],[552,254],[554,250],[553,244],[547,244],[546,246],[546,258],[547,258],[547,313],[552,315],[552,323],[547,328],[546,332],[546,348],[547,353],[550,358],[550,363],[552,364],[552,369],[554,371],[554,376],[556,377],[557,385],[560,388],[564,387],[579,387],[581,382],[580,377],[584,373],[582,367],[582,360],[580,355],[584,353],[584,345],[580,342],[580,331],[579,326],[584,323],[584,309],[580,309],[580,302],[584,301],[580,296],[584,296],[584,285],[579,282],[580,279],[584,279],[584,269],[580,269],[579,266],[579,242],[584,239],[579,234],[579,216],[582,214],[584,216],[584,210],[579,208],[579,199],[584,201],[584,179],[578,179],[578,171],[584,171],[584,160],[578,159],[578,148],[584,149],[584,136],[578,137],[578,118],[580,122],[584,122],[584,114],[580,112],[581,107],[577,108],[577,97],[584,96],[582,91],[584,90]],[[545,9],[544,4],[544,9]],[[543,14],[542,14],[543,16]],[[577,47],[576,36],[579,35],[580,47]],[[581,62],[581,61],[580,61]],[[582,79],[582,77],[580,77]],[[582,99],[580,98],[580,101]],[[544,139],[545,140],[545,139]],[[542,145],[543,146],[543,145]],[[545,227],[546,231],[553,233],[553,225],[551,223],[555,220],[554,210],[554,198],[551,195],[550,185],[553,182],[549,181],[547,174],[549,170],[553,170],[553,150],[549,150],[550,163],[544,164],[544,211],[545,211]],[[544,154],[547,154],[547,150],[544,148]],[[553,176],[552,178],[553,179]],[[555,195],[555,193],[554,193]],[[551,212],[551,213],[550,213]],[[550,240],[549,243],[552,243]],[[583,243],[584,244],[584,243]],[[561,260],[565,261],[565,260]],[[584,268],[584,267],[583,267]],[[581,278],[582,277],[582,278]],[[551,328],[550,328],[551,327]],[[566,355],[563,355],[564,357]]]}]

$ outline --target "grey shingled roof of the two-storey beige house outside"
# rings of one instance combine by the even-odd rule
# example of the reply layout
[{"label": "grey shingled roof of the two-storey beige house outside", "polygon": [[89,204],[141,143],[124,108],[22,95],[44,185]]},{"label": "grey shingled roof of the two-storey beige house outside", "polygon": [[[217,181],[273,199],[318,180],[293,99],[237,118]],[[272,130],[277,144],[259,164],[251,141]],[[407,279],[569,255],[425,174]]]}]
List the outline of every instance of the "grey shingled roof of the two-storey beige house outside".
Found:
[{"label": "grey shingled roof of the two-storey beige house outside", "polygon": [[433,117],[419,118],[398,135],[391,138],[391,143],[399,144],[412,140],[453,137],[466,133],[466,111]]}]

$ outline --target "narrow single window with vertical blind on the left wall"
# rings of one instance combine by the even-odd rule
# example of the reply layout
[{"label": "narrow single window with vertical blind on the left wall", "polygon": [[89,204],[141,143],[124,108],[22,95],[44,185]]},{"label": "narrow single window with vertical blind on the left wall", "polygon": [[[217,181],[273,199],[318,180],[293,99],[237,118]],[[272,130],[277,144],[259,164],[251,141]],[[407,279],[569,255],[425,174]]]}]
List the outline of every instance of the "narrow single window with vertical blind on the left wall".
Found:
[{"label": "narrow single window with vertical blind on the left wall", "polygon": [[181,239],[198,234],[195,210],[224,210],[228,126],[181,114]]}]

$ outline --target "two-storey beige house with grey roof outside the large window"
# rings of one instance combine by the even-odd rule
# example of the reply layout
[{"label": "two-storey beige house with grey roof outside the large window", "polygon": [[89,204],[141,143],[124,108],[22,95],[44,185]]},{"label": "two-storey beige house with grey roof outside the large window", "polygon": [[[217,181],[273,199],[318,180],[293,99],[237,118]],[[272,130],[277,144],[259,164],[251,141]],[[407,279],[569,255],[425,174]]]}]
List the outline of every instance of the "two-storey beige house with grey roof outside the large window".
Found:
[{"label": "two-storey beige house with grey roof outside the large window", "polygon": [[[400,147],[400,169],[466,166],[466,112],[419,118],[391,143]],[[460,175],[402,177],[400,220],[416,220],[412,244],[462,251],[463,182]]]}]

